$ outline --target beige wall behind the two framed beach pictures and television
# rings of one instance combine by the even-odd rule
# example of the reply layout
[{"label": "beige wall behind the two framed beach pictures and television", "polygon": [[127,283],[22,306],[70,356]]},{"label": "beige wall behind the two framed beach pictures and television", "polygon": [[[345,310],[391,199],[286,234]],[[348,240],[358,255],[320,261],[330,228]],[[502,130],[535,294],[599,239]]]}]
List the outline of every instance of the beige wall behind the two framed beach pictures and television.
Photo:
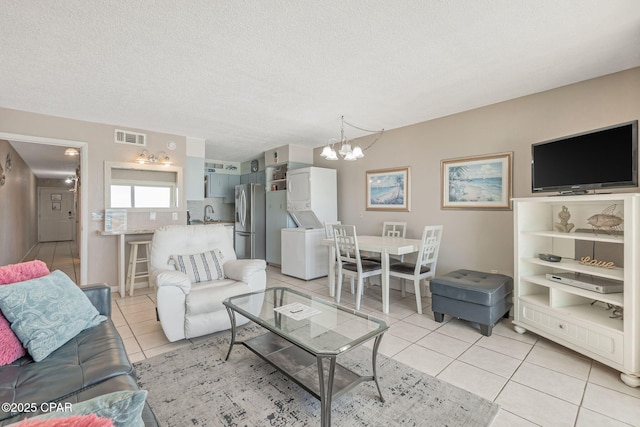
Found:
[{"label": "beige wall behind the two framed beach pictures and television", "polygon": [[[387,131],[356,162],[327,161],[318,148],[314,162],[338,170],[338,216],[359,233],[379,234],[383,221],[396,220],[407,221],[408,237],[418,238],[424,225],[443,224],[437,274],[470,268],[512,275],[513,212],[442,210],[440,161],[511,151],[513,195],[529,197],[531,144],[638,118],[640,68],[635,68]],[[371,140],[363,137],[360,145]],[[411,167],[411,211],[366,211],[366,171],[400,166]]]}]

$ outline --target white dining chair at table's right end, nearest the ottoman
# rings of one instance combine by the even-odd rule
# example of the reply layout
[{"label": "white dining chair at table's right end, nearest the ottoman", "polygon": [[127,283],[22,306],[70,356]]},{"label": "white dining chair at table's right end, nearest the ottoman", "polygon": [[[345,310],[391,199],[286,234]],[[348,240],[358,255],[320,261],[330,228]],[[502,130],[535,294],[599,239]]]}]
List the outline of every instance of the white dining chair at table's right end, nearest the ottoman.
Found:
[{"label": "white dining chair at table's right end, nearest the ottoman", "polygon": [[[436,274],[436,263],[442,240],[442,225],[427,225],[422,231],[422,242],[415,263],[400,262],[389,265],[389,276],[413,280],[418,313],[422,314],[422,297],[420,282],[432,279]],[[400,284],[402,296],[405,296],[405,280]]]}]

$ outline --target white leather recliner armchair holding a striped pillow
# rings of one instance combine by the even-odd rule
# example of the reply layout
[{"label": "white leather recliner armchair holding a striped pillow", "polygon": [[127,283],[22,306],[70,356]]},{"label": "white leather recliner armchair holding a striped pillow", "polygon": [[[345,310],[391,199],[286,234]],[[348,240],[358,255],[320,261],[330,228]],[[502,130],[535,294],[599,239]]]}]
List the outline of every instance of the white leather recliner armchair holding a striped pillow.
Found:
[{"label": "white leather recliner armchair holding a striped pillow", "polygon": [[[211,251],[218,255],[216,262],[224,271],[223,278],[195,282],[178,270],[178,256]],[[237,259],[224,225],[165,226],[153,235],[150,280],[158,292],[160,324],[167,339],[173,342],[229,329],[229,315],[222,301],[265,289],[266,263]],[[247,309],[257,314],[260,306]],[[237,323],[246,321],[239,318]]]}]

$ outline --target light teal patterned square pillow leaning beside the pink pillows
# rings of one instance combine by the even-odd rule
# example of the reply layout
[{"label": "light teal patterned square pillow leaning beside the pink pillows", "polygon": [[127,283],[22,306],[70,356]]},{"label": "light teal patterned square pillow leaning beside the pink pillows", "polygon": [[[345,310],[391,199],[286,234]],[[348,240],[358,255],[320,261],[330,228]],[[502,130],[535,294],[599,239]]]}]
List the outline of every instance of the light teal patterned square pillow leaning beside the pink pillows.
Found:
[{"label": "light teal patterned square pillow leaning beside the pink pillows", "polygon": [[0,310],[36,362],[80,331],[106,319],[69,276],[59,270],[0,286]]}]

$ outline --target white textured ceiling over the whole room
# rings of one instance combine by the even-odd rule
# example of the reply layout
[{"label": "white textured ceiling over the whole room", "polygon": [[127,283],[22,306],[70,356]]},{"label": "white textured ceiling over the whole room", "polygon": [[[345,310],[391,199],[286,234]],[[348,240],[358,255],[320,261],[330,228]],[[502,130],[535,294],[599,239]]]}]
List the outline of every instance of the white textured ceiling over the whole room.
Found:
[{"label": "white textured ceiling over the whole room", "polygon": [[[640,66],[637,0],[3,0],[0,107],[245,161]],[[347,136],[362,135],[346,129]]]}]

